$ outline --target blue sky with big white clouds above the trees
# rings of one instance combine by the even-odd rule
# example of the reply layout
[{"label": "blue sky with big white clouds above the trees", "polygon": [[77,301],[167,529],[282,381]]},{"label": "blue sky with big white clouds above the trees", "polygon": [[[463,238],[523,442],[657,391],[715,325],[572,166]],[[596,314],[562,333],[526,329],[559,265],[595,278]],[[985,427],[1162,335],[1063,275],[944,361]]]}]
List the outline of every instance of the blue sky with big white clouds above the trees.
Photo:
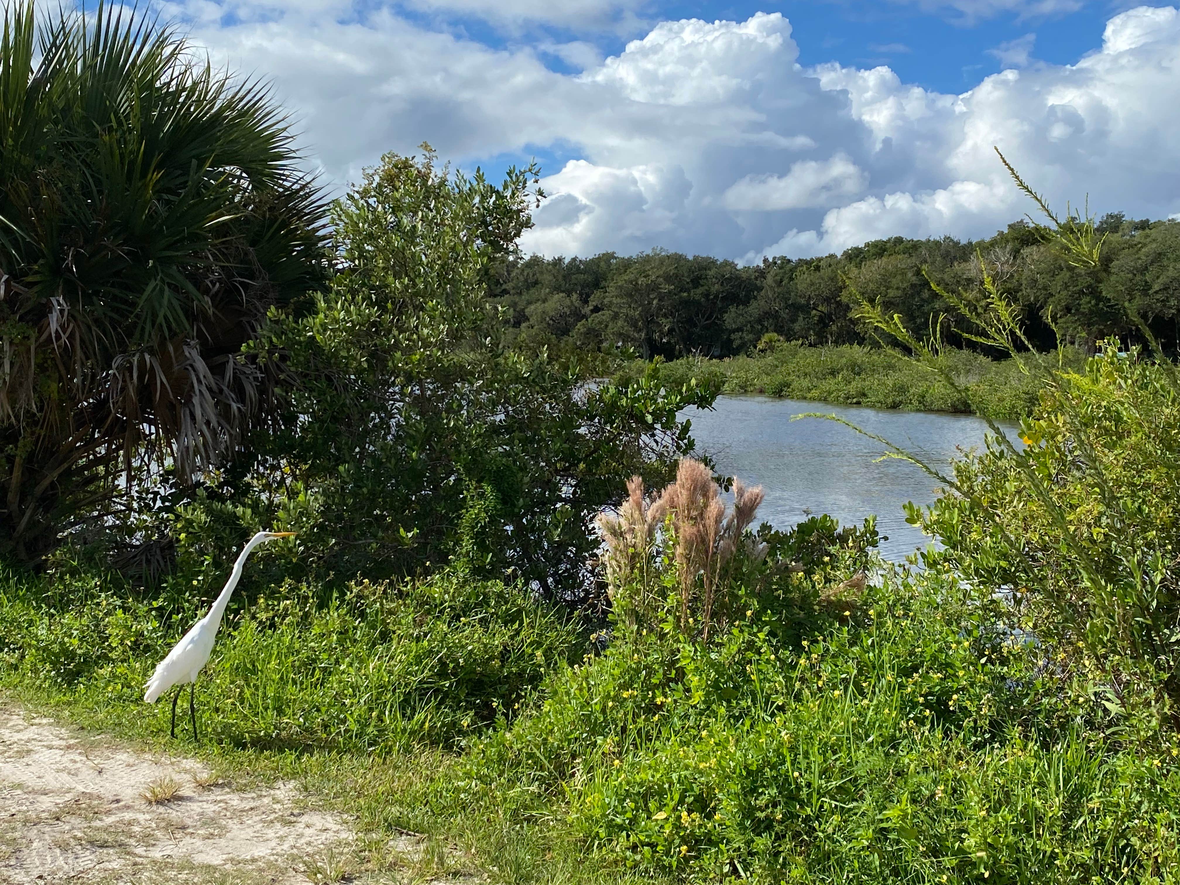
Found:
[{"label": "blue sky with big white clouds above the trees", "polygon": [[1180,214],[1180,12],[1109,0],[168,0],[333,192],[430,142],[549,195],[522,245],[740,262]]}]

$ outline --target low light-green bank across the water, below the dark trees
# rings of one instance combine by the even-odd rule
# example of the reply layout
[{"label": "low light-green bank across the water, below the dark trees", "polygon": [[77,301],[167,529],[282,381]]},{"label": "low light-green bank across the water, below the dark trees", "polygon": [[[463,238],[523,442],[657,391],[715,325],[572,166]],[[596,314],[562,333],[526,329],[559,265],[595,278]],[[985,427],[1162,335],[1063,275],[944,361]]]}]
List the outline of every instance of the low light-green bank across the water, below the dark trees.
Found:
[{"label": "low light-green bank across the water, below the dark trees", "polygon": [[[857,345],[784,343],[754,356],[675,360],[661,365],[660,374],[676,386],[696,378],[725,393],[846,406],[978,413],[1003,420],[1020,420],[1032,413],[1042,385],[1022,373],[1015,361],[989,360],[968,350],[949,353],[944,360],[966,395],[896,353]],[[1071,355],[1071,363],[1081,362],[1080,356]],[[637,371],[628,367],[624,376]]]}]

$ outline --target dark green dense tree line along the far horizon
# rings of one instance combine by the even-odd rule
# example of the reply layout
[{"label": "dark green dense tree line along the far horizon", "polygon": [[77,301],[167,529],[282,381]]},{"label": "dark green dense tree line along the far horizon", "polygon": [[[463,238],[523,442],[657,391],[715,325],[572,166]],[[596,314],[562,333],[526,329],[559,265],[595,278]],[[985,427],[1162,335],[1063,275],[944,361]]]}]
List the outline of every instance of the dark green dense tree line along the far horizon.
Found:
[{"label": "dark green dense tree line along the far horizon", "polygon": [[986,270],[1024,309],[1038,347],[1054,343],[1054,327],[1081,347],[1107,335],[1136,339],[1130,313],[1174,352],[1180,223],[1112,212],[1095,228],[1104,235],[1101,273],[1070,263],[1020,221],[989,240],[891,237],[841,255],[763,258],[747,267],[662,250],[531,256],[505,266],[496,300],[525,348],[729,356],[750,350],[767,333],[809,345],[871,342],[854,317],[858,296],[879,301],[912,329],[927,329],[953,313],[930,281],[955,294],[978,291]]}]

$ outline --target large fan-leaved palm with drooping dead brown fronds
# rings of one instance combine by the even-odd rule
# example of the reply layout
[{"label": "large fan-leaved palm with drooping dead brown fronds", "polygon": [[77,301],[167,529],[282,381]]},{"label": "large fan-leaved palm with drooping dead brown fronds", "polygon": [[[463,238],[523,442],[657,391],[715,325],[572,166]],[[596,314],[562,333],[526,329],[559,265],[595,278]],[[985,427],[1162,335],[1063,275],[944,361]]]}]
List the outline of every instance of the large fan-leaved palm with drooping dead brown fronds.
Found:
[{"label": "large fan-leaved palm with drooping dead brown fronds", "polygon": [[243,355],[324,274],[284,113],[125,7],[0,39],[0,553],[35,560],[139,471],[230,454],[273,371]]}]

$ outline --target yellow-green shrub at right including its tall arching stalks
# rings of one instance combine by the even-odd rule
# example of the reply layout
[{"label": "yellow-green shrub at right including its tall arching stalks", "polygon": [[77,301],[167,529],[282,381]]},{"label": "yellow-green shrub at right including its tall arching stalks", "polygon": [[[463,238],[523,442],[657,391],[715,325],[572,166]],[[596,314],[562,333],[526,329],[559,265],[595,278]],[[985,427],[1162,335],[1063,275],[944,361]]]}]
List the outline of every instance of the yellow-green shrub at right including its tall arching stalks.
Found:
[{"label": "yellow-green shrub at right including its tall arching stalks", "polygon": [[[997,149],[998,152],[998,149]],[[1056,216],[1001,155],[1017,186],[1048,218],[1038,237],[1063,261],[1101,282],[1106,235],[1092,217]],[[1018,451],[988,419],[984,454],[953,477],[902,450],[937,476],[948,493],[925,516],[910,510],[948,545],[968,579],[1011,598],[1025,627],[1050,643],[1054,660],[1092,681],[1092,691],[1123,728],[1154,733],[1161,720],[1180,728],[1180,559],[1175,502],[1180,492],[1180,372],[1161,350],[1134,300],[1120,306],[1154,362],[1108,339],[1099,356],[1071,371],[1069,353],[1030,354],[1021,309],[1002,293],[978,256],[978,284],[957,295],[932,288],[974,328],[972,340],[1007,352],[1041,404],[1022,422]],[[912,363],[970,396],[948,363],[937,332],[919,340],[879,302],[863,302],[858,319],[910,349]]]}]

